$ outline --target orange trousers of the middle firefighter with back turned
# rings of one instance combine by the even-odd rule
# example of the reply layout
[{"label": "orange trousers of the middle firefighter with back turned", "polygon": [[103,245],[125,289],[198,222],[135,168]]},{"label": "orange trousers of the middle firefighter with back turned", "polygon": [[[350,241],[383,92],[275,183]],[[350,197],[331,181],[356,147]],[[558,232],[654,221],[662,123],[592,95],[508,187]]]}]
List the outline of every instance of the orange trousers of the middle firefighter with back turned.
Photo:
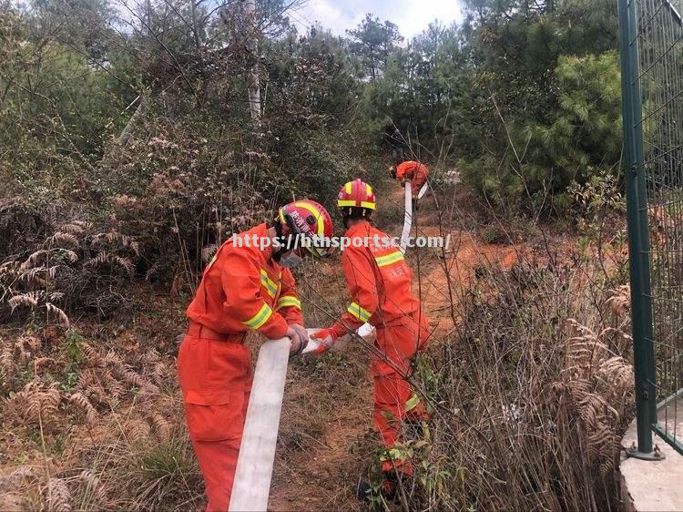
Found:
[{"label": "orange trousers of the middle firefighter with back turned", "polygon": [[[426,338],[426,319],[418,324],[407,318],[377,329],[377,348],[385,355],[386,360],[376,356],[372,359],[372,418],[382,437],[382,444],[390,454],[392,448],[395,449],[401,443],[401,423],[406,419],[422,420],[427,417],[422,402],[404,378],[410,372],[417,345],[423,348]],[[394,458],[392,461],[382,462],[382,470],[389,471],[394,467],[401,468],[403,473],[412,470],[410,460]]]}]

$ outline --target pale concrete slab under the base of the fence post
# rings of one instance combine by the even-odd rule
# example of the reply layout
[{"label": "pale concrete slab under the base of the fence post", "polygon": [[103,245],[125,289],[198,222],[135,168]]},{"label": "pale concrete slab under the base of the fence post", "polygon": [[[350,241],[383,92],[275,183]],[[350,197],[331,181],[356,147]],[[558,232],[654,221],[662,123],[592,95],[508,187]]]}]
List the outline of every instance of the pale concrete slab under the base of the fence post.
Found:
[{"label": "pale concrete slab under the base of the fence post", "polygon": [[[667,426],[683,438],[683,401],[672,400],[658,414],[659,425]],[[629,448],[637,440],[636,422],[628,427],[622,445]],[[622,495],[627,510],[679,511],[683,510],[683,456],[657,435],[653,443],[665,456],[664,460],[650,462],[633,457],[622,457]],[[631,507],[628,507],[629,503]]]}]

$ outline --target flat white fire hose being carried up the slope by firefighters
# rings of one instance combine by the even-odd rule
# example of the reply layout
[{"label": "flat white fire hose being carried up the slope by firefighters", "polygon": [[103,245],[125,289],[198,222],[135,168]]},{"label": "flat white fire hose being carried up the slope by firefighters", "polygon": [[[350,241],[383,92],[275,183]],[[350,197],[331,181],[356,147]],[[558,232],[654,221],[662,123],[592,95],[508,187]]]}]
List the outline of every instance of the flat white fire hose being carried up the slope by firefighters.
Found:
[{"label": "flat white fire hose being carried up the slope by firefighters", "polygon": [[[400,243],[403,253],[408,245],[412,223],[413,190],[410,182],[406,182],[405,215]],[[365,337],[373,330],[372,325],[364,323],[357,333]],[[319,329],[307,329],[307,331],[312,334]],[[319,346],[318,341],[311,339],[303,353],[313,352]],[[254,380],[251,384],[247,417],[244,420],[240,456],[232,485],[230,512],[265,511],[268,507],[289,359],[289,338],[270,340],[260,347]]]}]

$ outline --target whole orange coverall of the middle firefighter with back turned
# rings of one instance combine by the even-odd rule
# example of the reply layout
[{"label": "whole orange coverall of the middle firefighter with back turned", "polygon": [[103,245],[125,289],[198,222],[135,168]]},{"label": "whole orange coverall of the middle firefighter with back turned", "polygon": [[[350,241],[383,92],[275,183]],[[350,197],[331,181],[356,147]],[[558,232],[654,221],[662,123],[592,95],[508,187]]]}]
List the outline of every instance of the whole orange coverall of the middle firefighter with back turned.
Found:
[{"label": "whole orange coverall of the middle firefighter with back turned", "polygon": [[[379,244],[375,244],[375,235]],[[342,318],[331,327],[335,337],[354,330],[363,323],[376,328],[375,347],[370,372],[374,381],[374,425],[387,447],[388,458],[382,470],[401,467],[410,474],[412,466],[396,448],[404,419],[426,417],[423,404],[405,380],[411,374],[415,353],[429,338],[427,319],[420,312],[420,302],[413,295],[413,272],[397,247],[384,247],[382,239],[391,237],[363,220],[346,231],[346,236],[365,239],[366,247],[347,248],[342,252],[342,268],[352,296],[352,303]]]}]

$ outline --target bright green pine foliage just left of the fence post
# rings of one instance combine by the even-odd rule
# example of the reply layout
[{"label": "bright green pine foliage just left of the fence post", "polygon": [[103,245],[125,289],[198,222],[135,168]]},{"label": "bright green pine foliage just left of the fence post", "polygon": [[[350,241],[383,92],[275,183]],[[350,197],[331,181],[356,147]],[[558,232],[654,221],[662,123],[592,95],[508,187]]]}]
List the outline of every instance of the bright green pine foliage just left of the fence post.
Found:
[{"label": "bright green pine foliage just left of the fence post", "polygon": [[535,210],[566,210],[571,183],[586,183],[617,166],[622,130],[617,55],[561,56],[553,79],[560,91],[556,108],[543,120],[507,119],[500,133],[509,137],[506,153],[464,166],[469,182],[494,203],[525,200]]}]

